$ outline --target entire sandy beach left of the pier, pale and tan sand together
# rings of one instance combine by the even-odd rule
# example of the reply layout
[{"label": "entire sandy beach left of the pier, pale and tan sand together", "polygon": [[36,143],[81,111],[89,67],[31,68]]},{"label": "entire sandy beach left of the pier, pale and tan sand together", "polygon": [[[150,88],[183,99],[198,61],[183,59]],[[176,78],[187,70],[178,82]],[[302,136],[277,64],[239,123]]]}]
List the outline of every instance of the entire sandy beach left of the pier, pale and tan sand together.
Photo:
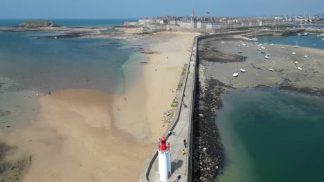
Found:
[{"label": "entire sandy beach left of the pier, pale and tan sand together", "polygon": [[171,108],[195,36],[146,37],[145,48],[158,53],[147,55],[142,77],[125,94],[70,89],[39,97],[33,123],[1,134],[0,181],[137,181],[168,127],[163,112]]}]

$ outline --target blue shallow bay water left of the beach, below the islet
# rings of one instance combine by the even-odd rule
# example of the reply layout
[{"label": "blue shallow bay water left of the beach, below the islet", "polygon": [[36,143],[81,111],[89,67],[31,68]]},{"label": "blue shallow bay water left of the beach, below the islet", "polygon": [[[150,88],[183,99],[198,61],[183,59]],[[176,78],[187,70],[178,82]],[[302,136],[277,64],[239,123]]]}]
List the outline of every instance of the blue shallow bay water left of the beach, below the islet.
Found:
[{"label": "blue shallow bay water left of the beach, below the islet", "polygon": [[[121,66],[137,48],[115,39],[35,39],[42,32],[0,32],[0,77],[20,89],[93,88],[114,93]],[[52,34],[46,32],[46,34]],[[120,44],[110,44],[110,43]],[[15,88],[12,88],[15,89]]]}]

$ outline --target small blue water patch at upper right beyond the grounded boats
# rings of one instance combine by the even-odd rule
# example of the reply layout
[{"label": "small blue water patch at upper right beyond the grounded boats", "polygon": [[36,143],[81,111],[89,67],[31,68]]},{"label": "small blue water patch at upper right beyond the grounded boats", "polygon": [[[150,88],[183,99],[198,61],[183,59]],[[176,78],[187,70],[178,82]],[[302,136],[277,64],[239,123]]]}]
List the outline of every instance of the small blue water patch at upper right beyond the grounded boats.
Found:
[{"label": "small blue water patch at upper right beyond the grounded boats", "polygon": [[296,45],[296,41],[299,46],[307,47],[307,48],[316,48],[324,50],[324,41],[322,41],[323,37],[316,36],[285,36],[285,37],[271,37],[264,36],[259,37],[258,41],[260,43],[274,43],[274,44],[286,44],[286,45]]}]

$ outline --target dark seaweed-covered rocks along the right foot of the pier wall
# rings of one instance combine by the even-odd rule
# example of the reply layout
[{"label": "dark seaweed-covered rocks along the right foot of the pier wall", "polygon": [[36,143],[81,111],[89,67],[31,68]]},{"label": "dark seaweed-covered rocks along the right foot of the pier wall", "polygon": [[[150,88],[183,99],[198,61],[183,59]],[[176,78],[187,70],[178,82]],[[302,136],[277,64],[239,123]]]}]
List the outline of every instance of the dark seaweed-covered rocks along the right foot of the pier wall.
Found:
[{"label": "dark seaweed-covered rocks along the right foot of the pier wall", "polygon": [[[215,35],[222,39],[226,35]],[[206,51],[208,50],[208,51]],[[208,41],[199,41],[195,114],[193,119],[192,181],[212,181],[221,172],[224,152],[215,123],[217,110],[222,107],[221,96],[232,87],[217,79],[206,77],[208,62],[229,63],[245,61],[245,57],[210,51]]]}]

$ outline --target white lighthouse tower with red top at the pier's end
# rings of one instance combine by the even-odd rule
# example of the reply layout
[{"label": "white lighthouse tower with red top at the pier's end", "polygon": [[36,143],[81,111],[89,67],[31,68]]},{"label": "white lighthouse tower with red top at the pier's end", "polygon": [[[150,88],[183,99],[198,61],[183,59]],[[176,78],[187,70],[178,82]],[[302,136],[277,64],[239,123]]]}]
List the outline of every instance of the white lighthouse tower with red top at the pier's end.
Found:
[{"label": "white lighthouse tower with red top at the pier's end", "polygon": [[171,176],[170,143],[163,137],[158,145],[160,181],[168,181]]}]

